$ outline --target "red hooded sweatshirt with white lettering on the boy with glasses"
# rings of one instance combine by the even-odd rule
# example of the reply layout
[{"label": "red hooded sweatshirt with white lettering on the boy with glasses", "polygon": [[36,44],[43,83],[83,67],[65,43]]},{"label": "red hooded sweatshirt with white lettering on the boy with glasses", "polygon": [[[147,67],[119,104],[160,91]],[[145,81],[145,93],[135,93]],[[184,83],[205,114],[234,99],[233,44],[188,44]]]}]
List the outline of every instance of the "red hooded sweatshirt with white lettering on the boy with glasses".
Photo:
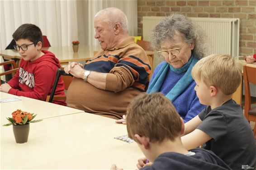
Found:
[{"label": "red hooded sweatshirt with white lettering on the boy with glasses", "polygon": [[[51,95],[52,87],[60,62],[50,51],[42,51],[43,56],[37,60],[21,60],[19,70],[8,84],[12,87],[9,94],[25,96],[45,101],[47,95]],[[65,96],[64,82],[59,79],[55,95]],[[65,101],[53,101],[53,103],[66,106]]]}]

